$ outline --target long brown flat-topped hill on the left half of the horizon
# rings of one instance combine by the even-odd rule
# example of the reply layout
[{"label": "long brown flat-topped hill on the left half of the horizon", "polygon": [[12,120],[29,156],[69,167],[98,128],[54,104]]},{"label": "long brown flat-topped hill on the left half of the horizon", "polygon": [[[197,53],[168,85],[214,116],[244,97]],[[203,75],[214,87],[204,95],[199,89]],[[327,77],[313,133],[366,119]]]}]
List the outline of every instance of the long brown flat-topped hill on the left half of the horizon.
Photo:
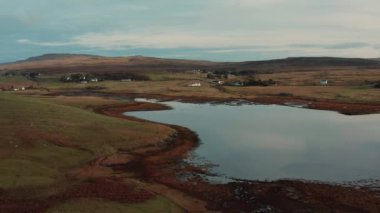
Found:
[{"label": "long brown flat-topped hill on the left half of the horizon", "polygon": [[143,56],[102,57],[93,55],[47,54],[23,61],[0,65],[5,70],[39,72],[143,72],[143,71],[184,71],[205,69],[214,66],[209,61],[161,59]]}]

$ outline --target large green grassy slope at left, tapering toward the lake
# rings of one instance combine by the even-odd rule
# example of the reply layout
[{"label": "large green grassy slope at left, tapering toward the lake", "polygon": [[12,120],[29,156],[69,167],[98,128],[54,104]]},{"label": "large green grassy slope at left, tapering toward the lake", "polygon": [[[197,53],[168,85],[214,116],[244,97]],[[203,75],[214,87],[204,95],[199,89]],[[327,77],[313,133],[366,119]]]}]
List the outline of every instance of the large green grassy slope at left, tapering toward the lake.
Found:
[{"label": "large green grassy slope at left, tapering toward the lake", "polygon": [[9,93],[0,93],[0,118],[0,188],[6,189],[57,184],[96,156],[156,143],[172,133]]}]

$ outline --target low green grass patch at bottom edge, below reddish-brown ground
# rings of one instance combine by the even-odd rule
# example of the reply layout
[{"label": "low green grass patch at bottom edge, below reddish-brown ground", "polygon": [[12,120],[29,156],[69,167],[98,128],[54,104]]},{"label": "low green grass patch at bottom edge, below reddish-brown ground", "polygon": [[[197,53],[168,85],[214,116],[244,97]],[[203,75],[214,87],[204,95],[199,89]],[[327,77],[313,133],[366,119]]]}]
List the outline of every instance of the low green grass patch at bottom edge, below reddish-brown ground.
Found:
[{"label": "low green grass patch at bottom edge, below reddish-brown ground", "polygon": [[95,199],[79,199],[65,202],[57,205],[48,213],[58,212],[81,212],[81,213],[177,213],[183,212],[178,206],[171,203],[169,200],[163,197],[157,197],[144,203],[139,204],[123,204],[118,202],[111,202],[105,200]]}]

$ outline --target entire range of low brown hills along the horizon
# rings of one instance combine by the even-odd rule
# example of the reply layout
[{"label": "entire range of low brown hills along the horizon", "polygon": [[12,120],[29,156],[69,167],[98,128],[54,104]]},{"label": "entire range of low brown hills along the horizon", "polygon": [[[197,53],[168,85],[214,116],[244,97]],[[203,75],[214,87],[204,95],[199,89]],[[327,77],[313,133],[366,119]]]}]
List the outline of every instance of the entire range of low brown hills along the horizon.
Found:
[{"label": "entire range of low brown hills along the horizon", "polygon": [[145,72],[145,71],[186,71],[201,69],[246,73],[380,69],[379,59],[333,58],[333,57],[292,57],[267,61],[211,62],[200,60],[162,59],[144,56],[103,57],[95,55],[46,54],[23,61],[0,65],[0,72],[39,71],[62,72]]}]

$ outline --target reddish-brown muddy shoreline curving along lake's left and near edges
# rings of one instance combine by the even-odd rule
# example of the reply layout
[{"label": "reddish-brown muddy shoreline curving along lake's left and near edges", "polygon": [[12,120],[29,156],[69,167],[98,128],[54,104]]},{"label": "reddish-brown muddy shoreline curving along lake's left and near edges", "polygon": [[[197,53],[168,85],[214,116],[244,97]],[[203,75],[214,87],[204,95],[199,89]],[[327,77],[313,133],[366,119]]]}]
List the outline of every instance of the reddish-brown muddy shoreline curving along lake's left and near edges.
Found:
[{"label": "reddish-brown muddy shoreline curving along lake's left and near edges", "polygon": [[[136,97],[158,98],[157,96],[138,95]],[[163,99],[163,97],[160,98],[160,100]],[[187,98],[185,100],[181,99],[181,101],[209,102],[210,99]],[[225,102],[226,100],[223,101]],[[267,104],[276,104],[272,103],[271,99],[266,101]],[[132,103],[124,106],[104,106],[98,108],[96,112],[133,121],[150,122],[125,116],[122,113],[127,111],[166,109],[168,107],[162,104]],[[259,210],[259,212],[380,211],[379,194],[366,188],[351,188],[297,180],[272,182],[239,181],[228,184],[209,183],[201,178],[201,174],[207,172],[204,168],[181,165],[181,159],[198,146],[197,135],[184,127],[167,126],[177,131],[173,143],[153,151],[144,152],[142,150],[139,153],[140,157],[133,163],[121,165],[115,167],[115,169],[120,171],[132,170],[138,173],[139,178],[145,181],[162,184],[185,192],[192,197],[206,202],[208,210],[223,212],[252,210]],[[186,181],[178,178],[179,174],[186,173],[192,173],[193,175]]]}]

